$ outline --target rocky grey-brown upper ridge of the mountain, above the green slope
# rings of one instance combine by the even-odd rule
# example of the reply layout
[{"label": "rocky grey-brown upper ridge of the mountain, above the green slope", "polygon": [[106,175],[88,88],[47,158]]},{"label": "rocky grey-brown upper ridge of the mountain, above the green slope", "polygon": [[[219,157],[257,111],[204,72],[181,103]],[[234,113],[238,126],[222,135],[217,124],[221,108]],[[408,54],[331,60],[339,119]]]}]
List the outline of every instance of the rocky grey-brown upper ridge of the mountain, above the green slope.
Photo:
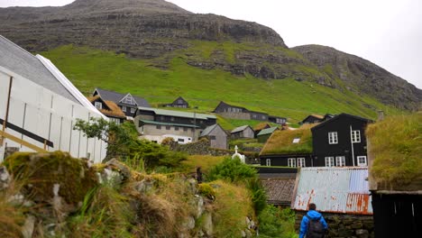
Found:
[{"label": "rocky grey-brown upper ridge of the mountain, above the green slope", "polygon": [[[364,59],[314,46],[290,50],[269,27],[191,14],[163,0],[77,0],[62,7],[0,8],[0,34],[33,52],[75,44],[154,59],[161,69],[181,57],[201,69],[224,69],[239,76],[316,81],[402,109],[416,110],[422,101],[420,89]],[[211,45],[209,52],[201,53],[201,44]]]}]

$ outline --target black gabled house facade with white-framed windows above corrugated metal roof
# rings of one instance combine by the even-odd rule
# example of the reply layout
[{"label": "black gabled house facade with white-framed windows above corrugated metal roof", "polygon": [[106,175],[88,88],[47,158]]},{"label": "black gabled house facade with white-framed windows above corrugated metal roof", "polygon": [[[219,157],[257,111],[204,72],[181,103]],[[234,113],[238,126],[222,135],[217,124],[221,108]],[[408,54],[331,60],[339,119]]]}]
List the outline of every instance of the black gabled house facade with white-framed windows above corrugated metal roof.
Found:
[{"label": "black gabled house facade with white-framed windows above corrugated metal roof", "polygon": [[312,127],[314,166],[367,166],[365,128],[370,122],[338,114]]}]

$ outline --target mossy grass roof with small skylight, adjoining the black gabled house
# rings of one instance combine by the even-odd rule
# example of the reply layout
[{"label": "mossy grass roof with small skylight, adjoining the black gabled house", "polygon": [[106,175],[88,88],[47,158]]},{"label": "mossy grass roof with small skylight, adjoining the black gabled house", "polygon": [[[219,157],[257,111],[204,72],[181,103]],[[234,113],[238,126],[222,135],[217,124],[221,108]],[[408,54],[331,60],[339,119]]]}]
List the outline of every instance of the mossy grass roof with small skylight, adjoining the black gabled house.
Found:
[{"label": "mossy grass roof with small skylight, adjoining the black gabled house", "polygon": [[[262,148],[261,155],[292,154],[312,152],[312,133],[307,124],[297,130],[275,131]],[[293,142],[299,139],[298,142]]]}]

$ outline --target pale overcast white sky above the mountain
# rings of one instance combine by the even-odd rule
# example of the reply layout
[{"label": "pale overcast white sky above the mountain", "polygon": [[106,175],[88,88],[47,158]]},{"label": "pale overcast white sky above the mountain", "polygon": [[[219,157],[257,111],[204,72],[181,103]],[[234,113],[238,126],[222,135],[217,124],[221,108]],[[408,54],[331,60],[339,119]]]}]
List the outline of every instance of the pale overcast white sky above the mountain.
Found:
[{"label": "pale overcast white sky above the mountain", "polygon": [[[115,0],[119,1],[119,0]],[[73,0],[0,0],[12,5],[67,5]],[[199,14],[267,25],[289,47],[321,44],[369,59],[422,88],[420,0],[169,0]]]}]

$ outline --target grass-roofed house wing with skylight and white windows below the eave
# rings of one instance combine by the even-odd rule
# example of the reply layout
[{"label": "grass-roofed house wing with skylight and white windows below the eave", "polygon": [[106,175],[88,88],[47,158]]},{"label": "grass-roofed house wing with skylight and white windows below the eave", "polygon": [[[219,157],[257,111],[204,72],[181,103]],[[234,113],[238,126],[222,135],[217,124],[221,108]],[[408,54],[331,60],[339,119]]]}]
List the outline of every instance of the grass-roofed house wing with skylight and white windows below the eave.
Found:
[{"label": "grass-roofed house wing with skylight and white windows below the eave", "polygon": [[275,131],[260,153],[263,166],[312,167],[312,133],[309,126]]}]

